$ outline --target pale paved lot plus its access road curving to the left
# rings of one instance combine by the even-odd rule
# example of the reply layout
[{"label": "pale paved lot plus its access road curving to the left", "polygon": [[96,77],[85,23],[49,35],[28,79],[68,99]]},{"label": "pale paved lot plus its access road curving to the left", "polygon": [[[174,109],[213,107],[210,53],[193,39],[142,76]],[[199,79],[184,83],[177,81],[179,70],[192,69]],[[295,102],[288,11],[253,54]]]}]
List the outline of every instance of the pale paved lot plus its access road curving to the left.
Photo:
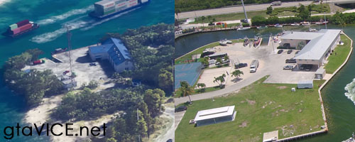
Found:
[{"label": "pale paved lot plus its access road curving to the left", "polygon": [[[276,45],[274,45],[277,47]],[[231,51],[234,50],[234,51]],[[248,66],[251,63],[251,60],[257,59],[259,60],[259,68],[255,73],[249,73],[249,67],[245,67],[241,69],[244,72],[244,75],[241,76],[242,80],[238,82],[232,82],[231,79],[227,79],[226,88],[220,89],[214,92],[207,92],[202,94],[195,94],[190,96],[192,101],[200,100],[200,99],[209,99],[213,97],[220,97],[224,94],[237,92],[242,87],[246,87],[249,84],[256,82],[256,80],[261,79],[266,75],[270,75],[266,80],[267,83],[288,83],[288,84],[296,84],[301,80],[312,80],[315,74],[315,67],[312,71],[291,71],[291,70],[283,70],[285,65],[295,65],[295,64],[286,64],[285,60],[289,58],[293,58],[295,56],[295,51],[291,54],[287,54],[286,50],[277,54],[278,50],[275,50],[273,53],[273,48],[271,45],[269,46],[261,46],[259,48],[249,48],[244,47],[241,43],[236,43],[231,46],[226,46],[220,48],[218,52],[226,52],[230,55],[230,59],[233,62],[247,62]],[[214,70],[214,69],[209,69]],[[212,72],[212,71],[209,71]],[[203,74],[202,74],[203,75]],[[206,76],[206,75],[204,75]],[[188,97],[180,97],[175,98],[175,105],[185,103],[189,99]]]}]

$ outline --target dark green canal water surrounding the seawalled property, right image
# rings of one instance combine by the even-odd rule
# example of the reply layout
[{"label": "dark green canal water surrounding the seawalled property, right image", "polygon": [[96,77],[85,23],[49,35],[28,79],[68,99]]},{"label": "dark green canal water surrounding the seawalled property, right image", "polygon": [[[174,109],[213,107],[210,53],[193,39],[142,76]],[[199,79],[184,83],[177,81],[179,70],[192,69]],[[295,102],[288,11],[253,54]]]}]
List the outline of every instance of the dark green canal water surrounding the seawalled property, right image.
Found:
[{"label": "dark green canal water surrounding the seawalled property, right image", "polygon": [[[284,27],[285,30],[307,30],[307,28]],[[324,26],[315,26],[312,28],[324,28]],[[329,25],[328,28],[341,29],[342,27]],[[355,26],[348,25],[344,27],[344,33],[355,40]],[[268,37],[269,33],[278,33],[279,28],[268,28],[263,31],[220,31],[213,33],[201,33],[188,35],[184,38],[175,40],[175,57],[199,48],[202,45],[218,41],[220,39],[244,38],[246,35],[252,38],[253,35]],[[312,138],[305,138],[300,141],[305,142],[336,142],[344,141],[351,137],[355,132],[355,53],[351,53],[349,61],[344,65],[337,75],[322,89],[322,99],[324,110],[329,126],[328,133]]]}]

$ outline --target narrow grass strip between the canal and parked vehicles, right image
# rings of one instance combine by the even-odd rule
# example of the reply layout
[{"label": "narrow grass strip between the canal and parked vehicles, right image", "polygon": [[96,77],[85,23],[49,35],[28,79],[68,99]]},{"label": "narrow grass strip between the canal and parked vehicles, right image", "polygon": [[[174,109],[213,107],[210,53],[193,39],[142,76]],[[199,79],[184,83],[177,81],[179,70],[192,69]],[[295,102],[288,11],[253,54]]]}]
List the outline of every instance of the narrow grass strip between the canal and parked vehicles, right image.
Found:
[{"label": "narrow grass strip between the canal and parked vehicles, right image", "polygon": [[[242,43],[244,42],[244,39],[239,39],[239,40],[231,40],[233,43]],[[198,48],[197,50],[192,51],[191,53],[187,53],[185,55],[183,55],[180,58],[175,59],[175,65],[181,64],[181,63],[185,63],[182,61],[185,60],[192,60],[192,55],[196,55],[196,54],[202,54],[203,50],[206,48],[213,48],[215,46],[219,45],[219,41],[214,42],[214,43],[210,43],[208,45],[204,45],[201,48]]]}]

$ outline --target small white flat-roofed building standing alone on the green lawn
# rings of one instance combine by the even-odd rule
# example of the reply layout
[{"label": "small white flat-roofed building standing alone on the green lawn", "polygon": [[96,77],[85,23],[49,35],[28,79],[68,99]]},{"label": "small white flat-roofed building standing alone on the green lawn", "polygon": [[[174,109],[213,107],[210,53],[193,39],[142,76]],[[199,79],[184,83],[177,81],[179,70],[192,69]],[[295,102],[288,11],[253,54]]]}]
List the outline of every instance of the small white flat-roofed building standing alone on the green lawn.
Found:
[{"label": "small white flat-roofed building standing alone on the green lawn", "polygon": [[207,109],[198,111],[195,116],[196,126],[204,126],[209,124],[217,124],[225,121],[234,121],[236,111],[235,106],[219,107],[216,109]]}]

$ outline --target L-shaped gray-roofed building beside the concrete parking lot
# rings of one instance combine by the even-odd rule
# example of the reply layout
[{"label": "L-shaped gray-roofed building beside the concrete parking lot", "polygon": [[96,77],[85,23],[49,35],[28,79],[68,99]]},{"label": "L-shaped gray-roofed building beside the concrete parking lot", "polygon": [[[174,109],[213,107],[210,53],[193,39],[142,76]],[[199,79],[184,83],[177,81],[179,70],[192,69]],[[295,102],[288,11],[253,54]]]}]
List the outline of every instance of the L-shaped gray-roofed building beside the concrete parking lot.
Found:
[{"label": "L-shaped gray-roofed building beside the concrete parking lot", "polygon": [[340,30],[330,29],[322,29],[317,33],[288,31],[280,37],[280,45],[300,48],[300,43],[304,43],[305,46],[294,58],[297,65],[320,67],[339,43],[340,32]]}]

